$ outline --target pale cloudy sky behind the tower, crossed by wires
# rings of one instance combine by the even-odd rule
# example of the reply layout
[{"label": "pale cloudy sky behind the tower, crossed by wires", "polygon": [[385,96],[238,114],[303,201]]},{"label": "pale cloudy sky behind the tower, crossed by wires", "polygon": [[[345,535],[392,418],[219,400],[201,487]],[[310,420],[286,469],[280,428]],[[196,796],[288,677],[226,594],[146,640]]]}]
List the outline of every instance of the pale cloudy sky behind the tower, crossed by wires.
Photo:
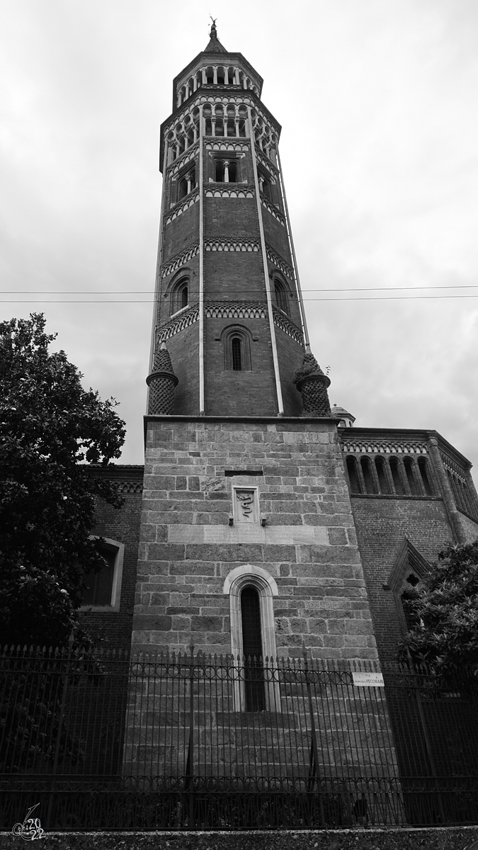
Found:
[{"label": "pale cloudy sky behind the tower, crossed by wires", "polygon": [[282,123],[331,401],[478,467],[476,0],[2,0],[0,319],[44,311],[143,462],[158,131],[209,13]]}]

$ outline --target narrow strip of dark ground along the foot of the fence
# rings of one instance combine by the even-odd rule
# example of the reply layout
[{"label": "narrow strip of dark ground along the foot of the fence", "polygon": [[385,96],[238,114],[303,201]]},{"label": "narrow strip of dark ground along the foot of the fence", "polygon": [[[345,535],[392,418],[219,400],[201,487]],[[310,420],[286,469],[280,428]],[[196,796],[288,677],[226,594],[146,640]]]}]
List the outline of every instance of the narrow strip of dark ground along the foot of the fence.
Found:
[{"label": "narrow strip of dark ground along the foot of the fence", "polygon": [[[476,845],[475,845],[476,842]],[[0,850],[25,850],[0,833]],[[34,845],[35,846],[35,845]],[[478,826],[262,832],[50,832],[38,850],[478,850]]]}]

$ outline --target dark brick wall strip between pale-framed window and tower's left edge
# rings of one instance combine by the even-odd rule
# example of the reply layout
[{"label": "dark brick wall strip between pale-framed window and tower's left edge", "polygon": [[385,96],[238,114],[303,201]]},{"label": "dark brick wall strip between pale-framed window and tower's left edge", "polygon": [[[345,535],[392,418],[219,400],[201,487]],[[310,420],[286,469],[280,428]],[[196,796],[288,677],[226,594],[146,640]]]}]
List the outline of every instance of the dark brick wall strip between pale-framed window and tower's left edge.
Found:
[{"label": "dark brick wall strip between pale-framed window and tower's left edge", "polygon": [[124,499],[118,510],[105,501],[96,502],[94,534],[124,543],[119,611],[91,611],[81,615],[85,629],[104,649],[129,649],[131,644],[143,469],[114,464],[104,473],[101,471],[105,478],[117,481]]}]

